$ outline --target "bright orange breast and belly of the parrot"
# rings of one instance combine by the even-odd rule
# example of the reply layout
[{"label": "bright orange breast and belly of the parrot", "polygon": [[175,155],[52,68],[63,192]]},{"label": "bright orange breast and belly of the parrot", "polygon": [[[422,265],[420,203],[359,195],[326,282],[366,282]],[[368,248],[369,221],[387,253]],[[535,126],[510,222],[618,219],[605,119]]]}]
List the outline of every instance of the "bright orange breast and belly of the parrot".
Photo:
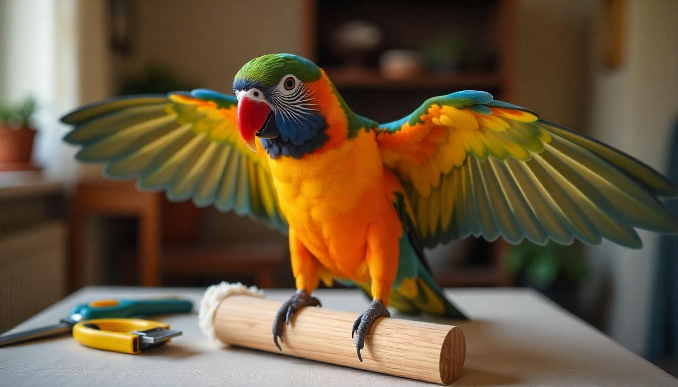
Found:
[{"label": "bright orange breast and belly of the parrot", "polygon": [[384,166],[373,132],[297,160],[270,160],[281,210],[306,248],[337,277],[369,279],[367,228],[399,220],[384,189]]}]

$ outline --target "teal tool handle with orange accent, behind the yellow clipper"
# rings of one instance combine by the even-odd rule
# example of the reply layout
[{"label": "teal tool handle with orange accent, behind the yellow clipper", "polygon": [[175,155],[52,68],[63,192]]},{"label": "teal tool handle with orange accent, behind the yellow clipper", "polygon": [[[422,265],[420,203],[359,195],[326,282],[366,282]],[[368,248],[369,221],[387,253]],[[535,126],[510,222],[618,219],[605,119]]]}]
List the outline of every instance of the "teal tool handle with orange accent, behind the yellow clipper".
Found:
[{"label": "teal tool handle with orange accent, behind the yellow clipper", "polygon": [[75,321],[92,319],[154,316],[156,314],[188,313],[193,309],[191,300],[165,298],[157,300],[99,300],[80,304],[71,310]]}]

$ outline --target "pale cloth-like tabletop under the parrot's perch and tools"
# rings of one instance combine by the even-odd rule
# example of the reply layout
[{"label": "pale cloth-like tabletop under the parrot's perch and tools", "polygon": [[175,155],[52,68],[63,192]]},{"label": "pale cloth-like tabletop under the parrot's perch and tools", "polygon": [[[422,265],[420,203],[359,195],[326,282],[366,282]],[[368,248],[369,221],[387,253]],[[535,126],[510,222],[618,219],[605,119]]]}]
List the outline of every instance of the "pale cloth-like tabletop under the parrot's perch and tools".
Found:
[{"label": "pale cloth-like tabletop under the parrot's perch and tools", "polygon": [[[73,305],[101,298],[180,295],[197,304],[202,293],[203,289],[85,287],[14,330],[54,323]],[[269,290],[266,297],[284,300],[290,293]],[[460,324],[466,335],[466,365],[452,386],[678,386],[678,380],[668,373],[535,291],[454,289],[448,293],[473,317]],[[367,306],[365,297],[355,290],[320,290],[317,296],[326,308],[359,313]],[[0,348],[0,385],[433,386],[279,354],[225,348],[202,335],[195,314],[161,320],[184,335],[168,346],[136,356],[85,348],[68,337]]]}]

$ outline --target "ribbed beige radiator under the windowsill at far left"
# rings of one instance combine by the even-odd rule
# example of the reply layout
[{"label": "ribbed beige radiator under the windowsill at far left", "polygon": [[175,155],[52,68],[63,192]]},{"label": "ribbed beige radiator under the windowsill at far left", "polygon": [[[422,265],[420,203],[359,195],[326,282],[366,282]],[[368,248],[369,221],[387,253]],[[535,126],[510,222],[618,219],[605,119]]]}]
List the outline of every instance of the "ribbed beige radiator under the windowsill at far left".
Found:
[{"label": "ribbed beige radiator under the windowsill at far left", "polygon": [[63,222],[0,232],[0,332],[54,304],[65,291]]}]

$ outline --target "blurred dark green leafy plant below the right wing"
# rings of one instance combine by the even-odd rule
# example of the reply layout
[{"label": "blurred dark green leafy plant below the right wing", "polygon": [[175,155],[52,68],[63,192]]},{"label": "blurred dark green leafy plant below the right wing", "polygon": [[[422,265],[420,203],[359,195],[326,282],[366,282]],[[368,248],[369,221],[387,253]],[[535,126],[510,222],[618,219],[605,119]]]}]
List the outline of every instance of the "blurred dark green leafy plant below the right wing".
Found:
[{"label": "blurred dark green leafy plant below the right wing", "polygon": [[577,314],[579,285],[589,274],[589,266],[576,245],[549,241],[539,246],[525,240],[507,250],[504,262],[516,285],[533,287]]}]

